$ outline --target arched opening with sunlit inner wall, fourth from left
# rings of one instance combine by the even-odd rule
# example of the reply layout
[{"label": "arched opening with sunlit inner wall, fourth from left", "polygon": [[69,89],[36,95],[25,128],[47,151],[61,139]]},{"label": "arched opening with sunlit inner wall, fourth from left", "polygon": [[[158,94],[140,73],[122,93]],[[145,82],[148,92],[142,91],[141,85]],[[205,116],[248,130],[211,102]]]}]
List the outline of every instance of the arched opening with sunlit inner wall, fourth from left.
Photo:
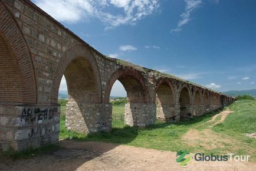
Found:
[{"label": "arched opening with sunlit inner wall, fourth from left", "polygon": [[162,81],[156,89],[156,117],[163,121],[175,121],[175,93],[168,81]]}]

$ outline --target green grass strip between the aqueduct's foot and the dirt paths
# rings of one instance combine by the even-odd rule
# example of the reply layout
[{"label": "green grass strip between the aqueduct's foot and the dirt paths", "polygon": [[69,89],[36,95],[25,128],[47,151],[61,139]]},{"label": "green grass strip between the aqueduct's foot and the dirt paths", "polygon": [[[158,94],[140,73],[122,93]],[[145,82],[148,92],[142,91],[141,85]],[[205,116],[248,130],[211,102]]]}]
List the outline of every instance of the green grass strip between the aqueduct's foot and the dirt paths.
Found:
[{"label": "green grass strip between the aqueduct's foot and the dirt paths", "polygon": [[[113,114],[124,112],[122,106],[113,106]],[[111,133],[83,134],[65,129],[65,117],[61,116],[60,138],[77,141],[102,141],[109,143],[128,144],[136,147],[146,147],[158,150],[177,151],[185,149],[186,144],[180,142],[180,137],[191,127],[211,119],[214,113],[205,114],[202,117],[195,117],[191,120],[180,121],[179,123],[162,123],[157,121],[155,125],[146,128],[129,127],[124,123],[116,124],[113,120]]]}]

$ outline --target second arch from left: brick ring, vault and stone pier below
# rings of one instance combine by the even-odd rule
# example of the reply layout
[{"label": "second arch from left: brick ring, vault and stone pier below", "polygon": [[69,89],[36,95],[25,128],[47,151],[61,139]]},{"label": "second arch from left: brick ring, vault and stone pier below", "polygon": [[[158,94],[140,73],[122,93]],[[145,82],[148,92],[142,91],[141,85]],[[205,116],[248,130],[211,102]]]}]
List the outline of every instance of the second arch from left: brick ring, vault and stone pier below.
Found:
[{"label": "second arch from left: brick ring, vault and stone pier below", "polygon": [[90,49],[77,44],[65,51],[55,71],[51,103],[57,104],[61,78],[68,88],[66,127],[77,132],[97,132],[106,129],[101,116],[101,82],[96,60]]}]

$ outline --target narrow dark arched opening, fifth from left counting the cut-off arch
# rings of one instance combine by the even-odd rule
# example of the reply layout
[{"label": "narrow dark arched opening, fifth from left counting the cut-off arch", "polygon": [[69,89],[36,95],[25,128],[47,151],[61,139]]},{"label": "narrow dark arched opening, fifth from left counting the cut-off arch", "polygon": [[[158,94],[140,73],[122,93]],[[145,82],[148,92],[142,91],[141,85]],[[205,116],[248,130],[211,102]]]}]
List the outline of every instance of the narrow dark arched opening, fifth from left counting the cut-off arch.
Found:
[{"label": "narrow dark arched opening, fifth from left counting the cut-off arch", "polygon": [[191,95],[187,87],[183,87],[179,96],[180,119],[188,119],[191,114]]}]

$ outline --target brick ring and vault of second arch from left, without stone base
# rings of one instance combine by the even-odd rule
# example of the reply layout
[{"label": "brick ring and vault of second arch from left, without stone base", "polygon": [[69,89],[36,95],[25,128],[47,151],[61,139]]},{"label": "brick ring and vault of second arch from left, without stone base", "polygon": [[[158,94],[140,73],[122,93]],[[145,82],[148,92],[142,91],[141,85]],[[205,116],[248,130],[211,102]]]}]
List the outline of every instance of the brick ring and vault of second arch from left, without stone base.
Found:
[{"label": "brick ring and vault of second arch from left, without stone base", "polygon": [[[77,70],[76,70],[77,68]],[[75,76],[72,77],[72,72],[74,72]],[[91,101],[87,100],[88,103],[101,103],[101,81],[100,81],[100,73],[99,68],[97,66],[96,60],[93,54],[90,51],[90,48],[83,44],[73,45],[73,47],[68,48],[60,62],[58,63],[57,70],[55,71],[54,81],[52,83],[52,92],[51,92],[51,104],[56,104],[58,100],[58,89],[60,88],[61,78],[65,75],[67,85],[68,85],[68,93],[72,91],[73,100],[79,93],[79,91],[83,91],[82,88],[86,88],[82,83],[78,83],[77,85],[81,85],[82,87],[71,85],[71,81],[81,80],[81,81],[89,81],[88,84],[93,84],[95,86],[94,94],[88,93],[87,96],[91,97]],[[89,77],[89,80],[86,80],[86,77]],[[90,82],[91,81],[91,82]],[[71,86],[71,87],[70,87]],[[90,85],[89,85],[90,86]],[[71,90],[78,88],[76,90]],[[93,87],[90,87],[92,90]],[[87,91],[87,90],[84,90]],[[76,95],[75,95],[76,94]],[[82,92],[80,94],[81,97],[78,101],[82,101],[82,96],[86,93]],[[76,100],[75,100],[76,101]],[[77,102],[77,101],[76,101]]]}]

